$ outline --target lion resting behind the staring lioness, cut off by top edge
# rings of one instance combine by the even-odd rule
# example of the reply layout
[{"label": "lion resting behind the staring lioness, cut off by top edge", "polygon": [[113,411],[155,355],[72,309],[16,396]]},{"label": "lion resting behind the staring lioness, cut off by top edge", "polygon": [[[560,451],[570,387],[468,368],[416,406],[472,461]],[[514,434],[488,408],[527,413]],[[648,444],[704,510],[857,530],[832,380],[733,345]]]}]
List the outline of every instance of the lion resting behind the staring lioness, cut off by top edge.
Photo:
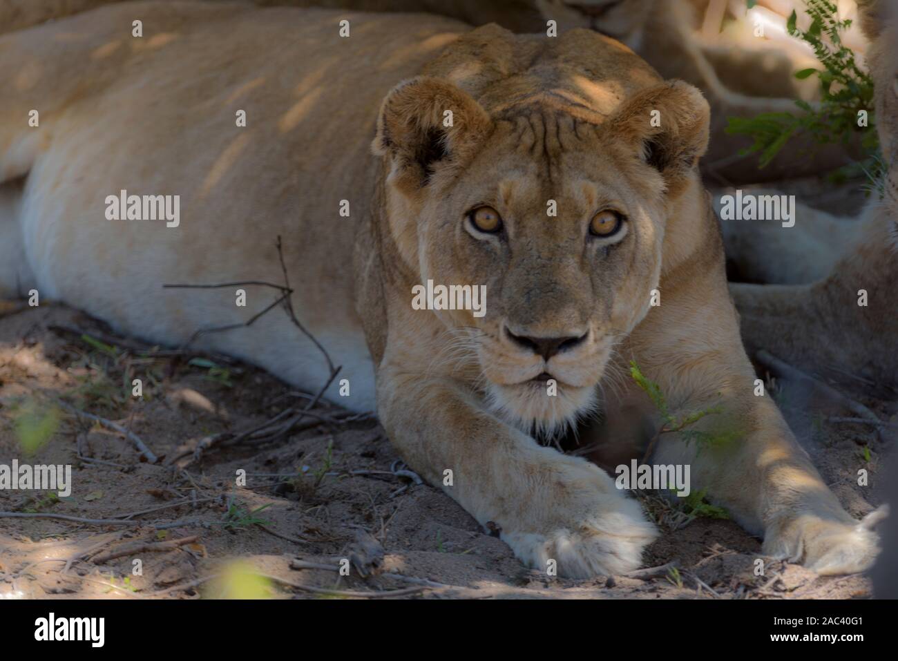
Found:
[{"label": "lion resting behind the staring lioness, cut off by top edge", "polygon": [[[203,0],[218,2],[219,0]],[[4,20],[21,28],[51,16],[119,0],[0,0]],[[751,145],[744,136],[728,135],[730,117],[762,112],[795,112],[801,94],[793,73],[797,66],[776,50],[706,48],[696,39],[695,7],[689,0],[243,0],[261,5],[326,7],[364,12],[427,12],[480,26],[489,22],[515,32],[546,33],[547,22],[558,31],[589,28],[621,40],[665,78],[696,85],[711,106],[711,141],[705,164],[717,181],[753,182],[827,172],[848,163],[843,145],[810,145],[785,150],[759,170],[754,156],[739,156]],[[4,16],[4,13],[7,14]],[[713,57],[713,62],[712,62]],[[717,67],[717,68],[716,68]],[[718,70],[726,72],[726,83]],[[734,74],[734,72],[738,72]],[[813,99],[806,99],[811,101]],[[807,154],[813,149],[814,158]]]}]

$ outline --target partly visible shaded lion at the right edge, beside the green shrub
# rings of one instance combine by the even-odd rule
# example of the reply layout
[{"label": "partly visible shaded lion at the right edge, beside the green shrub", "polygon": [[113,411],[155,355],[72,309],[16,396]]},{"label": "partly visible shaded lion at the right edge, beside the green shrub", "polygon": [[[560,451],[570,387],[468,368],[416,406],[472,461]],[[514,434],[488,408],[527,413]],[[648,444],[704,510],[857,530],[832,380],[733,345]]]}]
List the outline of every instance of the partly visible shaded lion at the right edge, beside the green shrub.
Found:
[{"label": "partly visible shaded lion at the right edge, beside the green shrub", "polygon": [[[889,163],[884,197],[869,203],[856,221],[806,213],[795,227],[732,224],[727,248],[754,279],[782,278],[790,265],[810,276],[800,285],[734,285],[735,303],[749,348],[814,371],[862,375],[877,384],[898,383],[898,21],[886,20],[887,3],[862,5],[863,25],[874,40],[869,63],[876,83],[876,124]],[[872,129],[871,129],[872,130]],[[752,238],[749,234],[755,234]],[[750,243],[764,234],[764,250]],[[823,246],[817,250],[815,246]],[[747,249],[747,250],[746,250]],[[746,255],[758,255],[756,258]],[[757,260],[757,263],[749,263]],[[867,306],[858,305],[860,290]],[[813,328],[813,332],[808,329]]]}]

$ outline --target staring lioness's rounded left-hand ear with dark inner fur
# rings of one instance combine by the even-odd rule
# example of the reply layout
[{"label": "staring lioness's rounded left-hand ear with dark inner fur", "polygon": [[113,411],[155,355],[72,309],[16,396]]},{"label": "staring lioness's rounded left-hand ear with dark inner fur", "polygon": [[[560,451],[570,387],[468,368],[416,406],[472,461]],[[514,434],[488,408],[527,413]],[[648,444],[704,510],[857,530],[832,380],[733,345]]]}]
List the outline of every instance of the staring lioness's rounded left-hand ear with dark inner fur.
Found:
[{"label": "staring lioness's rounded left-hand ear with dark inner fur", "polygon": [[418,189],[437,169],[467,163],[491,129],[489,114],[470,95],[418,76],[383,100],[372,151],[392,157],[394,182]]}]

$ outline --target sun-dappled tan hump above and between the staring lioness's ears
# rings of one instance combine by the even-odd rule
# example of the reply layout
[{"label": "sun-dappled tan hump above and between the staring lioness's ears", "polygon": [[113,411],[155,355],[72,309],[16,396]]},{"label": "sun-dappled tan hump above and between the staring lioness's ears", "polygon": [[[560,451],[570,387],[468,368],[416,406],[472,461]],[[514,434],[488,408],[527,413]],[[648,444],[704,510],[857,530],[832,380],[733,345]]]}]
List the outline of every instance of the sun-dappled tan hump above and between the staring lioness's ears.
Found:
[{"label": "sun-dappled tan hump above and between the staring lioness's ears", "polygon": [[515,35],[495,24],[462,35],[424,73],[450,80],[490,114],[540,102],[594,122],[662,80],[629,48],[597,32]]}]

